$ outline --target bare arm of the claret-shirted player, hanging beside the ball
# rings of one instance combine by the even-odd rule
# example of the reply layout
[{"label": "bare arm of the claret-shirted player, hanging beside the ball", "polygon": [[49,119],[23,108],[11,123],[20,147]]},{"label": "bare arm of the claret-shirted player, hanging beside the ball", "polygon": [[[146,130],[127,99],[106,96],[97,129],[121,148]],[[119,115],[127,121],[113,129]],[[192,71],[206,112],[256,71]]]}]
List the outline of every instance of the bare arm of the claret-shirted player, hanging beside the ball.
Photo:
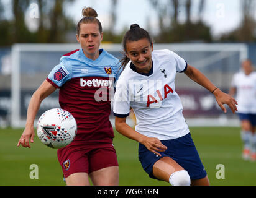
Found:
[{"label": "bare arm of the claret-shirted player, hanging beside the ball", "polygon": [[17,146],[21,144],[22,147],[29,147],[29,140],[30,142],[34,142],[34,120],[35,116],[37,114],[37,111],[39,110],[40,104],[42,101],[48,97],[51,93],[53,93],[56,90],[56,88],[50,84],[47,80],[45,80],[39,88],[34,92],[32,95],[29,107],[27,108],[27,121],[25,124],[24,132],[21,135],[21,138],[19,139],[19,142]]}]

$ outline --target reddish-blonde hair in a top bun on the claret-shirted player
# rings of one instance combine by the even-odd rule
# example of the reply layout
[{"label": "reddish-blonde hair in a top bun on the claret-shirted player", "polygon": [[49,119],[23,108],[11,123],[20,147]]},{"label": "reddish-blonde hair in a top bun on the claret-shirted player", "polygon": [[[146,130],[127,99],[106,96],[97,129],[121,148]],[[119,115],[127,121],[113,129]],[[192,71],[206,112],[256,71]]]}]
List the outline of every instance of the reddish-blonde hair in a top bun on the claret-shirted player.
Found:
[{"label": "reddish-blonde hair in a top bun on the claret-shirted player", "polygon": [[81,24],[90,24],[90,23],[95,23],[99,25],[99,32],[103,32],[103,28],[101,26],[101,22],[96,18],[98,17],[97,12],[91,8],[91,7],[84,7],[82,10],[83,18],[78,22],[76,25],[76,34],[79,35],[80,32],[80,25]]}]

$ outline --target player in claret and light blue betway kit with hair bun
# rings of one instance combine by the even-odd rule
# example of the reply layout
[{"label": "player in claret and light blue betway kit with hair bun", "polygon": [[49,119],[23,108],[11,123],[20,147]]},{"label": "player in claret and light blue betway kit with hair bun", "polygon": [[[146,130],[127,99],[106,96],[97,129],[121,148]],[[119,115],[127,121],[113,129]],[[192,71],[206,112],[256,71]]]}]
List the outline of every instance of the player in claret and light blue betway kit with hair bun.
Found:
[{"label": "player in claret and light blue betway kit with hair bun", "polygon": [[78,125],[75,140],[57,152],[66,184],[89,185],[90,177],[94,185],[118,185],[119,166],[109,115],[111,90],[119,77],[120,62],[99,49],[103,32],[97,12],[84,8],[83,16],[76,26],[81,48],[62,56],[60,64],[32,95],[18,146],[30,147],[40,103],[59,88],[60,107],[69,111]]}]

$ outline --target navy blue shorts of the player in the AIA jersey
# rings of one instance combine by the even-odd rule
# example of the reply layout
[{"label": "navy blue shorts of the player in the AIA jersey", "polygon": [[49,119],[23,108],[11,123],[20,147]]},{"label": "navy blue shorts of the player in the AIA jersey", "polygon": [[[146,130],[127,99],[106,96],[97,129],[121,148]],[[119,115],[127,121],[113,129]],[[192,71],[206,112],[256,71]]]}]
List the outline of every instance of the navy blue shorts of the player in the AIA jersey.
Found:
[{"label": "navy blue shorts of the player in the AIA jersey", "polygon": [[162,140],[161,142],[167,146],[165,152],[159,152],[162,155],[161,157],[150,152],[143,144],[139,144],[139,160],[150,178],[157,179],[153,176],[153,165],[162,157],[170,157],[175,160],[176,163],[188,171],[190,179],[206,177],[207,173],[204,170],[190,133],[177,139]]}]

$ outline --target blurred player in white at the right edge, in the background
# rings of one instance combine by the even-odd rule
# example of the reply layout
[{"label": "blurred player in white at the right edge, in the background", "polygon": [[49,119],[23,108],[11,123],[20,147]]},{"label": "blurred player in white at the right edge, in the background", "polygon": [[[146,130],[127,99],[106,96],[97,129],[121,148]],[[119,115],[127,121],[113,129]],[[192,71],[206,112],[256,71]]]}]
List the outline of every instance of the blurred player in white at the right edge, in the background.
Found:
[{"label": "blurred player in white at the right edge, in the background", "polygon": [[252,62],[242,62],[242,71],[234,75],[229,94],[236,95],[237,112],[241,124],[241,137],[244,144],[242,157],[256,160],[256,72]]}]

